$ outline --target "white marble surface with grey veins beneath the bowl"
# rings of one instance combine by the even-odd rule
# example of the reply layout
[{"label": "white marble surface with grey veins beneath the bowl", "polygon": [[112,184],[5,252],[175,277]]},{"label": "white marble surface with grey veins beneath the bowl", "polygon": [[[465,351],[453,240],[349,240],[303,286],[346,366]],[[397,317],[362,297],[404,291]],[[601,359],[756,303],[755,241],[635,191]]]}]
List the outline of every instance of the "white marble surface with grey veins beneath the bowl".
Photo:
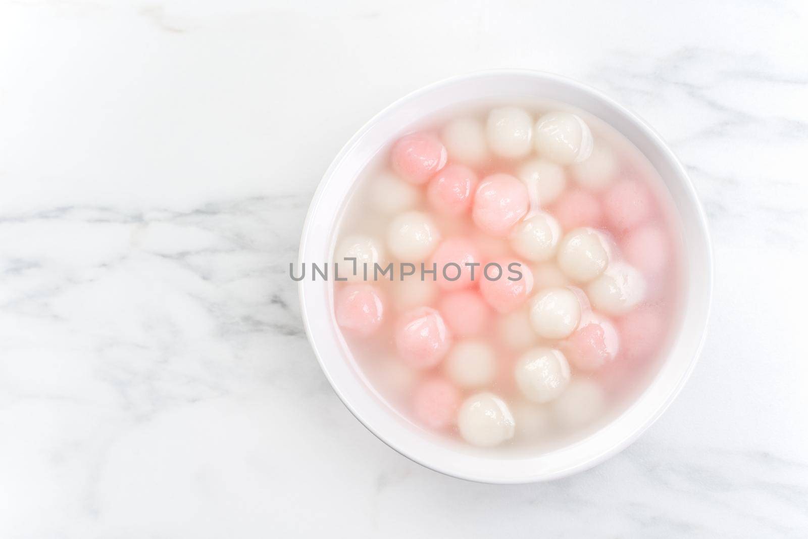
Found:
[{"label": "white marble surface with grey veins beneath the bowl", "polygon": [[[806,28],[802,0],[0,2],[0,537],[806,537]],[[491,67],[638,112],[713,229],[684,392],[549,484],[381,444],[286,274],[356,128]]]}]

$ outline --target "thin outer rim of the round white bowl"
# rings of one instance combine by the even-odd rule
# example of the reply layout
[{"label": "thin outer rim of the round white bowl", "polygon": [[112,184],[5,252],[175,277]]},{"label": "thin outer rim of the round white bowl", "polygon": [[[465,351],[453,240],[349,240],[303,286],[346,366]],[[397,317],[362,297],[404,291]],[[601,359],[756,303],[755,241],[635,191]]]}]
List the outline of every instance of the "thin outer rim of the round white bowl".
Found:
[{"label": "thin outer rim of the round white bowl", "polygon": [[[343,388],[340,387],[339,383],[335,381],[335,378],[332,376],[330,372],[328,361],[324,359],[325,354],[318,348],[317,342],[317,335],[314,331],[314,328],[311,325],[311,318],[309,316],[309,312],[307,310],[305,298],[306,298],[306,288],[307,283],[311,281],[301,280],[298,283],[298,299],[301,306],[301,318],[303,320],[303,324],[305,327],[305,333],[307,338],[309,339],[309,344],[311,345],[314,355],[317,357],[318,364],[322,369],[322,372],[326,375],[326,379],[328,380],[332,390],[335,391],[335,394],[339,397],[339,399],[343,402],[343,404],[347,407],[351,414],[356,417],[357,420],[360,421],[368,429],[368,431],[372,432],[374,436],[376,436],[379,440],[384,442],[390,448],[393,448],[394,451],[397,453],[402,454],[404,457],[407,457],[411,461],[415,461],[416,463],[423,465],[424,467],[439,472],[440,474],[448,475],[450,477],[461,478],[473,482],[485,482],[485,483],[492,483],[492,484],[520,484],[520,483],[528,483],[528,482],[544,482],[549,481],[557,478],[566,477],[572,474],[577,474],[584,470],[588,470],[591,467],[600,464],[601,462],[607,460],[609,457],[614,456],[615,454],[621,452],[623,449],[628,447],[632,444],[635,440],[638,439],[639,436],[642,435],[651,425],[653,425],[657,419],[667,410],[668,406],[675,400],[675,398],[680,394],[681,390],[684,388],[685,383],[688,381],[698,360],[701,357],[701,352],[703,350],[706,336],[707,336],[707,328],[709,326],[709,316],[712,310],[712,302],[713,302],[713,245],[709,234],[709,221],[707,219],[705,210],[701,204],[701,200],[696,192],[696,187],[693,185],[692,180],[690,179],[687,171],[685,170],[684,166],[680,162],[678,158],[676,158],[675,154],[671,150],[671,148],[667,145],[667,143],[663,140],[663,138],[657,133],[654,128],[651,128],[649,124],[646,123],[645,120],[642,120],[638,115],[629,111],[628,108],[622,106],[620,103],[617,103],[614,99],[610,98],[608,95],[605,95],[603,92],[595,89],[592,86],[584,84],[582,82],[576,81],[572,78],[566,78],[558,74],[552,74],[540,70],[533,70],[533,69],[485,69],[485,70],[478,70],[473,71],[465,74],[455,75],[449,78],[441,79],[440,81],[433,82],[428,84],[427,86],[420,87],[415,91],[411,91],[408,94],[402,96],[399,99],[393,101],[388,106],[381,109],[381,111],[377,112],[377,114],[373,115],[368,121],[366,121],[360,128],[356,130],[356,133],[343,145],[342,149],[339,150],[339,153],[336,154],[335,158],[330,162],[330,165],[326,169],[326,172],[322,175],[322,179],[318,183],[318,187],[314,192],[314,196],[312,196],[311,202],[309,204],[308,211],[306,213],[305,221],[303,224],[303,228],[301,231],[301,242],[298,251],[297,263],[302,264],[305,262],[304,254],[305,254],[305,247],[307,242],[309,241],[309,235],[312,233],[312,226],[314,223],[314,217],[316,210],[318,208],[318,202],[322,199],[323,192],[326,190],[326,186],[329,182],[329,179],[334,175],[335,171],[339,168],[340,164],[346,158],[348,154],[350,154],[351,150],[354,149],[355,145],[360,141],[362,137],[368,130],[372,128],[374,124],[385,117],[385,115],[389,114],[389,112],[394,111],[398,107],[401,107],[402,104],[409,103],[410,101],[414,101],[423,95],[427,95],[431,92],[437,91],[444,86],[452,86],[459,82],[467,82],[473,81],[475,79],[480,78],[491,78],[491,77],[507,77],[507,76],[516,76],[516,77],[527,77],[533,79],[541,79],[545,82],[553,82],[559,85],[570,86],[571,88],[576,89],[577,91],[583,92],[594,98],[597,101],[605,103],[609,107],[612,107],[616,112],[618,112],[621,116],[623,116],[626,120],[628,120],[634,127],[638,128],[640,132],[642,132],[642,137],[645,137],[647,141],[650,142],[651,145],[654,146],[655,149],[658,149],[662,154],[663,157],[667,160],[667,162],[673,168],[673,174],[675,178],[681,183],[681,187],[684,187],[685,194],[688,198],[690,204],[692,204],[692,209],[695,210],[697,216],[697,222],[695,223],[696,229],[698,229],[699,233],[701,234],[701,238],[699,238],[704,243],[704,251],[701,253],[702,256],[705,257],[704,261],[704,269],[706,271],[705,274],[705,290],[706,293],[705,297],[705,304],[704,304],[704,316],[703,316],[703,323],[701,325],[701,335],[698,337],[698,342],[696,347],[693,349],[692,356],[689,360],[687,368],[684,372],[680,375],[679,380],[675,384],[675,386],[669,390],[667,394],[667,398],[660,402],[659,405],[656,407],[654,412],[648,415],[645,421],[640,424],[638,427],[633,429],[633,432],[630,432],[628,436],[624,436],[621,440],[617,440],[617,442],[610,444],[608,447],[603,448],[600,453],[592,455],[591,457],[587,458],[585,461],[580,461],[574,465],[570,465],[561,470],[555,470],[553,472],[538,472],[533,474],[525,474],[524,476],[514,476],[514,475],[507,475],[503,477],[498,477],[496,474],[490,473],[480,473],[474,470],[457,470],[457,469],[450,469],[446,465],[437,465],[434,461],[429,461],[427,458],[423,457],[419,454],[414,454],[412,451],[407,451],[401,447],[398,447],[397,444],[394,444],[389,439],[387,439],[384,435],[382,435],[376,425],[371,424],[367,419],[364,418],[362,412],[356,409],[356,405],[354,402],[351,401],[351,398],[344,393]],[[617,128],[616,128],[617,129]],[[619,131],[619,129],[618,129]],[[624,133],[621,133],[624,134]],[[624,134],[624,136],[626,136]],[[642,150],[641,150],[642,151]],[[678,205],[677,205],[677,209]],[[681,332],[681,329],[680,329]],[[344,358],[340,357],[339,360],[345,360]],[[669,362],[670,357],[666,358],[665,362]],[[656,375],[659,377],[659,373]],[[656,378],[655,377],[655,378]],[[654,378],[654,380],[655,380]],[[653,381],[649,382],[649,387],[653,383]],[[648,388],[646,388],[647,390]],[[633,402],[629,409],[632,408],[637,404],[637,401],[642,397],[642,394],[639,394],[635,398],[635,402]],[[615,419],[612,419],[608,425],[617,422],[618,419],[622,417],[622,415],[627,414],[628,410],[624,411],[621,416],[618,416]],[[583,441],[583,440],[582,440]],[[578,442],[576,444],[572,444],[570,447],[578,445],[582,442]],[[565,448],[559,449],[563,451]],[[488,457],[490,458],[490,457]],[[506,460],[506,459],[502,459]],[[512,458],[507,460],[513,460]]]}]

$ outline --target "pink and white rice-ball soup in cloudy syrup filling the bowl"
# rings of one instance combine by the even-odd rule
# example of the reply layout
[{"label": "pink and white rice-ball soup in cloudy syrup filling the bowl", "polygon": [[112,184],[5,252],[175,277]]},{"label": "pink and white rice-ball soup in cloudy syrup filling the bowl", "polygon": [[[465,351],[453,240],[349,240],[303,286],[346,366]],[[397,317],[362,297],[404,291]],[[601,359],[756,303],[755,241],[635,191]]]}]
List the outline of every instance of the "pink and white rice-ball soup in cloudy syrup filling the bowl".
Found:
[{"label": "pink and white rice-ball soup in cloudy syrup filling the bowl", "polygon": [[621,415],[685,292],[679,221],[646,158],[541,100],[466,103],[398,133],[332,243],[335,329],[359,378],[469,452],[541,456]]}]

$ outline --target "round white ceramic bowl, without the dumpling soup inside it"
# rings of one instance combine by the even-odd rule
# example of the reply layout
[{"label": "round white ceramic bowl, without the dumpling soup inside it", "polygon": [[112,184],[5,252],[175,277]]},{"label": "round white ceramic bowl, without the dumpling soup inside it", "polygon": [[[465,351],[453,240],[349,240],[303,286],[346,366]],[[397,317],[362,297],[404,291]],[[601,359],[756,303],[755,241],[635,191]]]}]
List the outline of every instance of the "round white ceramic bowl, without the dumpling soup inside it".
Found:
[{"label": "round white ceramic bowl, without the dumpling soup inside it", "polygon": [[657,133],[600,91],[579,82],[527,70],[495,70],[449,78],[415,91],[379,112],[331,163],[303,226],[300,262],[331,259],[341,209],[359,172],[402,128],[465,101],[525,98],[570,103],[600,117],[629,139],[659,171],[679,212],[684,235],[686,314],[659,373],[629,408],[584,440],[541,456],[495,457],[429,436],[394,414],[356,368],[333,317],[331,282],[302,280],[301,313],[320,366],[345,406],[365,427],[413,461],[457,478],[521,483],[586,470],[621,451],[654,423],[688,379],[701,351],[709,315],[713,263],[707,221],[683,166]]}]

